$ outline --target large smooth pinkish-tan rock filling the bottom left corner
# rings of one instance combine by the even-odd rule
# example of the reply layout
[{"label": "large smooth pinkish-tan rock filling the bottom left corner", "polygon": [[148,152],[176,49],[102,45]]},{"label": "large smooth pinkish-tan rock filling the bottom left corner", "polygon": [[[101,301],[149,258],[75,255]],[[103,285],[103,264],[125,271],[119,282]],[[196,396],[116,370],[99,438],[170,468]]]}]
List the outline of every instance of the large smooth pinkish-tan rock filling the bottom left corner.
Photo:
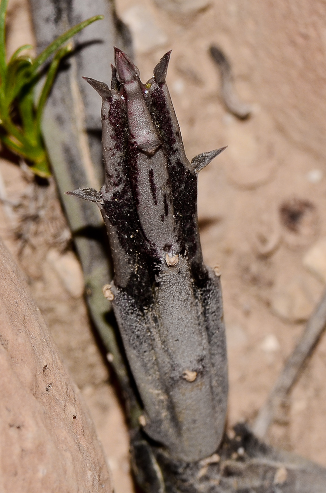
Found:
[{"label": "large smooth pinkish-tan rock filling the bottom left corner", "polygon": [[0,491],[112,492],[78,388],[0,243]]}]

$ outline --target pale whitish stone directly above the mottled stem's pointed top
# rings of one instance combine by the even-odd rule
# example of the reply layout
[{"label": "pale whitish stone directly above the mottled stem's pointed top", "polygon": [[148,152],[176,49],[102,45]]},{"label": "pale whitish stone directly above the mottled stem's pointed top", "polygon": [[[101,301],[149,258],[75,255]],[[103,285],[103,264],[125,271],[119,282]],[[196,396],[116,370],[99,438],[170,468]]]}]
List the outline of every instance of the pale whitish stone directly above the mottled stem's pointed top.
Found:
[{"label": "pale whitish stone directly above the mottled stem's pointed top", "polygon": [[167,36],[159,28],[153,16],[143,5],[133,5],[122,15],[130,28],[134,49],[137,53],[149,53],[167,43]]}]

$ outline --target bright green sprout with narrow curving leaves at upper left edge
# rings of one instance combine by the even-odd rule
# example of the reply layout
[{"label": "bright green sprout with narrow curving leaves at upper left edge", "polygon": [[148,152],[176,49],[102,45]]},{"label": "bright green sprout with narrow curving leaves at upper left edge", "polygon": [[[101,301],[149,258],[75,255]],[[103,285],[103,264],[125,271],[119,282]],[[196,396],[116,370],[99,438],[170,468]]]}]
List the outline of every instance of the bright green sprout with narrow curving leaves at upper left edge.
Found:
[{"label": "bright green sprout with narrow curving leaves at upper left edge", "polygon": [[[8,149],[26,159],[35,175],[50,176],[50,167],[41,133],[41,118],[61,60],[73,46],[62,46],[94,21],[97,15],[77,24],[55,39],[37,57],[21,55],[33,48],[25,44],[6,62],[5,17],[8,0],[0,2],[0,140]],[[41,75],[41,67],[53,55],[38,100],[34,101],[34,87]]]}]

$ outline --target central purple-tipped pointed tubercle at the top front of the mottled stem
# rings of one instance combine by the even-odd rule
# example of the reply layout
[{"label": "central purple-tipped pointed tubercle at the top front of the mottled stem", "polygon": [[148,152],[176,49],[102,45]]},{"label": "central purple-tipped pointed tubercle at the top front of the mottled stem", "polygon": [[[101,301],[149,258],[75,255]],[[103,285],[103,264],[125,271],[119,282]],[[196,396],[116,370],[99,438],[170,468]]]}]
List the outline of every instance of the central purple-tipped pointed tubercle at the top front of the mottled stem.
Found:
[{"label": "central purple-tipped pointed tubercle at the top front of the mottled stem", "polygon": [[160,147],[161,141],[143,97],[139,70],[118,48],[115,48],[115,63],[118,80],[123,84],[127,96],[131,142],[140,151],[153,155]]}]

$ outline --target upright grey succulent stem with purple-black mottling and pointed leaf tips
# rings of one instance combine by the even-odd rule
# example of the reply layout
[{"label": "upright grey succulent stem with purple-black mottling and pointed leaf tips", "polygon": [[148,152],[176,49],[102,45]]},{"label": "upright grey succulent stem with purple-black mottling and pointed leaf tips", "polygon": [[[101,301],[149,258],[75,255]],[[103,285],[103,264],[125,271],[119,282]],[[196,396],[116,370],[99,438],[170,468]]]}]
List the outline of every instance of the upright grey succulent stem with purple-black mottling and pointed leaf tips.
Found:
[{"label": "upright grey succulent stem with purple-black mottling and pointed leaf tips", "polygon": [[170,52],[143,84],[115,50],[102,98],[105,182],[69,192],[97,203],[114,263],[114,312],[147,435],[196,461],[221,443],[228,395],[220,279],[203,264],[197,173],[223,149],[185,155],[165,82]]}]

